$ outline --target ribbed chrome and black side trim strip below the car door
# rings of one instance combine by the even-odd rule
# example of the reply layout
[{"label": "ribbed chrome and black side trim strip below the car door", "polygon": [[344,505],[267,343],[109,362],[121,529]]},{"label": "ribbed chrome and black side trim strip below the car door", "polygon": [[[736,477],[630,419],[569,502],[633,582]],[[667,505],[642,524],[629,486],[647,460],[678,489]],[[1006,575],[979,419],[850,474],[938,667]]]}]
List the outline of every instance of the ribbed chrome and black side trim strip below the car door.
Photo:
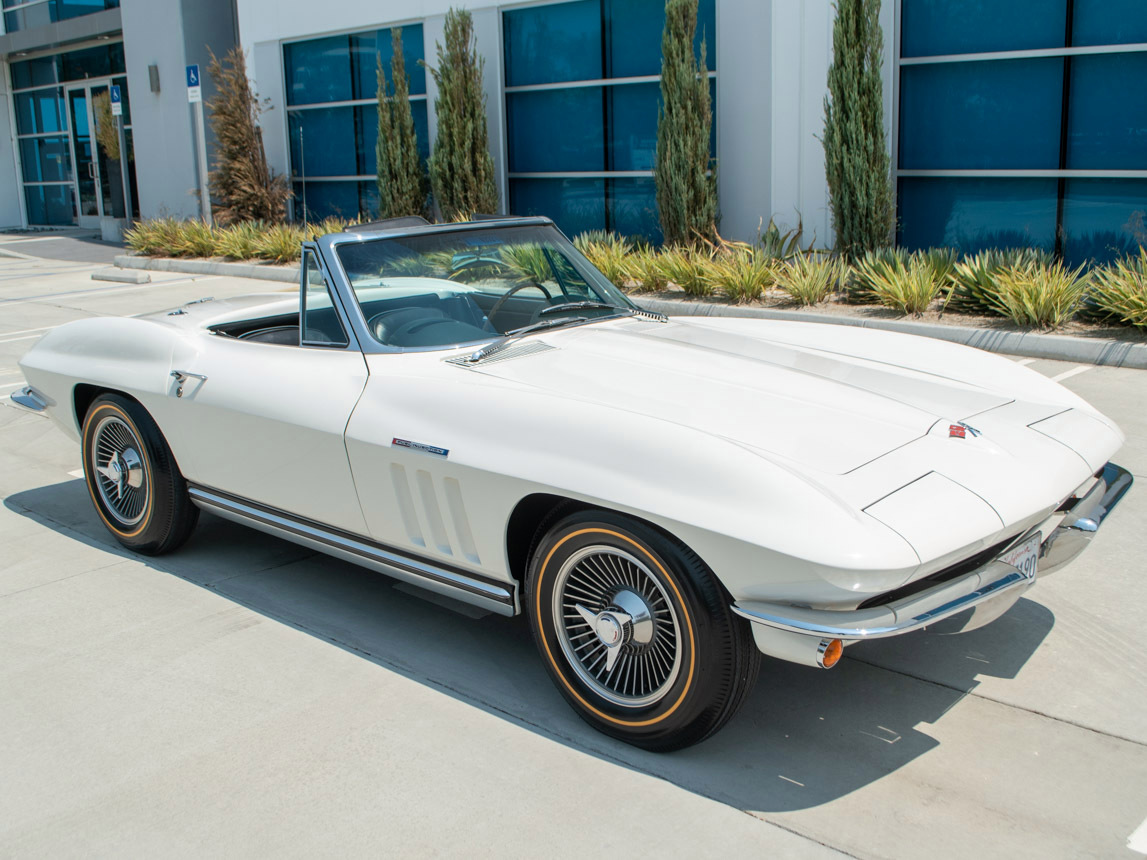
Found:
[{"label": "ribbed chrome and black side trim strip below the car door", "polygon": [[217,490],[190,485],[187,492],[198,508],[225,519],[249,525],[499,615],[513,616],[516,612],[517,593],[513,585],[460,568],[415,558],[369,538],[330,529],[321,523],[303,519]]}]

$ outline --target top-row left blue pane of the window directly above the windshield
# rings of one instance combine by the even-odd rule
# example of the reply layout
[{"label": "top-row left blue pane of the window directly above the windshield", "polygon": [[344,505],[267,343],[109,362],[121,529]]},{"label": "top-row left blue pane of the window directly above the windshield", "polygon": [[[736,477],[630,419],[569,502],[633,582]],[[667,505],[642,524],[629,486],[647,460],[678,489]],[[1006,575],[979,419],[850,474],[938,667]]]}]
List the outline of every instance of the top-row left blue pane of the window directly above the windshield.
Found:
[{"label": "top-row left blue pane of the window directly above the windshield", "polygon": [[502,30],[506,86],[604,77],[599,0],[509,9]]}]

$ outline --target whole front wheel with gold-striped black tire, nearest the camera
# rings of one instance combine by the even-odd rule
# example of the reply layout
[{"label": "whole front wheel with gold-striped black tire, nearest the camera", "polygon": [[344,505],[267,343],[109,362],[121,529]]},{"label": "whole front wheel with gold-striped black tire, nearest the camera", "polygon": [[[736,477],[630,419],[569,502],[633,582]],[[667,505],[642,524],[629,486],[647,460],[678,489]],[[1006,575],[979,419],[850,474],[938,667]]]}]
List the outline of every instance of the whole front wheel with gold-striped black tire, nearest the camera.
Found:
[{"label": "whole front wheel with gold-striped black tire, nearest the camera", "polygon": [[603,510],[543,524],[525,583],[543,662],[574,710],[648,750],[699,743],[756,681],[749,625],[692,550]]}]

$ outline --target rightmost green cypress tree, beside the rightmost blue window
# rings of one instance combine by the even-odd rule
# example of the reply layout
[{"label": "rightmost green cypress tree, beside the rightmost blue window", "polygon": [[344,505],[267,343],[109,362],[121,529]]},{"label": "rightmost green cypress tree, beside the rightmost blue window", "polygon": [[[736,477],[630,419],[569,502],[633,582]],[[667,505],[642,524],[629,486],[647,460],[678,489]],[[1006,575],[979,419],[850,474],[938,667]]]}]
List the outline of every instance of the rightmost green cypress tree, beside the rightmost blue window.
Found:
[{"label": "rightmost green cypress tree, beside the rightmost blue window", "polygon": [[825,96],[825,173],[836,249],[856,258],[892,241],[880,0],[840,0]]}]

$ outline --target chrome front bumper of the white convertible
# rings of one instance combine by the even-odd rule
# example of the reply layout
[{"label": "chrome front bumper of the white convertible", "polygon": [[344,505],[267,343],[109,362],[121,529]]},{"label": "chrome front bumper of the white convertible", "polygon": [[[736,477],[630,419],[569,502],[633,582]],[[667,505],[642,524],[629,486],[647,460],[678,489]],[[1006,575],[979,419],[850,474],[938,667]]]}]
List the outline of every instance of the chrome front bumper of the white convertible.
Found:
[{"label": "chrome front bumper of the white convertible", "polygon": [[[1024,574],[997,560],[934,588],[867,609],[804,609],[763,601],[743,601],[732,609],[752,621],[755,631],[759,626],[802,638],[840,639],[844,643],[898,636],[935,627],[947,619],[951,623],[943,628],[945,633],[975,630],[1011,609],[1037,577],[1059,570],[1086,549],[1131,483],[1131,474],[1125,469],[1114,463],[1103,467],[1094,486],[1068,510],[1060,525],[1040,545],[1035,574]],[[1035,531],[1016,538],[1012,546],[1023,542]],[[764,646],[766,640],[774,639],[758,635],[757,642]],[[762,647],[762,650],[770,652],[773,649]]]}]

